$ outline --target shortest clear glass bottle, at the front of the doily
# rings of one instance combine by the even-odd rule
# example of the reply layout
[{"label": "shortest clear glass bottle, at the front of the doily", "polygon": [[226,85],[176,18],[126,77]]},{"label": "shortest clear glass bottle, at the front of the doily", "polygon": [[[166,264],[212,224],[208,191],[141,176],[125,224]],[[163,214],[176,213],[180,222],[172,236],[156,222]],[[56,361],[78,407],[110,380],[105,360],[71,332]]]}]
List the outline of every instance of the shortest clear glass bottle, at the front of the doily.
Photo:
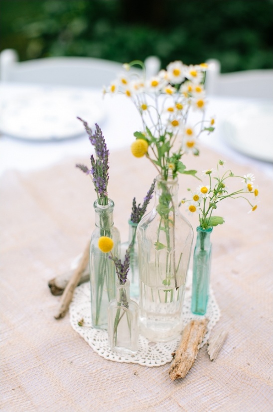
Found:
[{"label": "shortest clear glass bottle, at the front of the doily", "polygon": [[130,281],[116,282],[116,299],[108,306],[108,341],[112,351],[134,354],[138,349],[138,313],[136,302],[130,298]]}]

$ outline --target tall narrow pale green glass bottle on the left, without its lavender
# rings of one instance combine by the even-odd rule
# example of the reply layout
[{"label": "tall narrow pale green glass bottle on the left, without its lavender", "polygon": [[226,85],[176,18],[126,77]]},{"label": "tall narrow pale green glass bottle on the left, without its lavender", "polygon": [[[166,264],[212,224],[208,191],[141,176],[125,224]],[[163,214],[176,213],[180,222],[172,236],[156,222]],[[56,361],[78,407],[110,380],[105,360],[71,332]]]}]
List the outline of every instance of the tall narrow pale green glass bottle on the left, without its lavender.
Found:
[{"label": "tall narrow pale green glass bottle on the left, without its lavender", "polygon": [[95,229],[90,242],[90,287],[91,287],[91,317],[92,326],[97,329],[107,329],[107,309],[111,299],[116,296],[116,269],[114,262],[109,259],[109,253],[99,249],[98,240],[101,236],[113,239],[114,256],[120,256],[120,233],[114,227],[114,202],[108,199],[108,205],[103,206],[94,202]]}]

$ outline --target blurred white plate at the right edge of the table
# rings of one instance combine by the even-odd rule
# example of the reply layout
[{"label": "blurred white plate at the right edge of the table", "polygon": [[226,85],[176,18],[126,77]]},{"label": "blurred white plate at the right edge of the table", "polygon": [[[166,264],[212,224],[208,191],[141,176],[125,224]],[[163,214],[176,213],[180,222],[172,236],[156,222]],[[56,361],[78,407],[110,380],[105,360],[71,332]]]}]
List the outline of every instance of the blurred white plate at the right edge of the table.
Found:
[{"label": "blurred white plate at the right edge of the table", "polygon": [[240,153],[273,162],[273,102],[238,107],[222,122],[222,137]]}]

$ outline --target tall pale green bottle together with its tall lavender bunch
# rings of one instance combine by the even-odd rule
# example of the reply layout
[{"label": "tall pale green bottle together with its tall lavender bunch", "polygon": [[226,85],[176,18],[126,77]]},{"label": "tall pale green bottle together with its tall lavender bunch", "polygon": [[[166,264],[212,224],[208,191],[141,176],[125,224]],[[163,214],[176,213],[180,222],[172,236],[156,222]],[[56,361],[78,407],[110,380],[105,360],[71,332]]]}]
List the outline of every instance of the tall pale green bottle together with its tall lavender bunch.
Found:
[{"label": "tall pale green bottle together with its tall lavender bunch", "polygon": [[[91,177],[97,200],[94,202],[96,227],[92,233],[90,243],[90,282],[91,282],[91,309],[92,324],[95,328],[107,328],[107,307],[109,301],[115,297],[115,265],[108,259],[109,251],[102,252],[98,245],[99,238],[112,240],[114,253],[120,253],[120,234],[113,225],[114,202],[108,197],[109,181],[109,151],[107,149],[102,130],[96,124],[93,133],[86,121],[79,118],[84,124],[91,144],[95,148],[95,156],[91,155],[91,169],[77,164],[85,174]],[[113,245],[112,245],[113,246]]]}]

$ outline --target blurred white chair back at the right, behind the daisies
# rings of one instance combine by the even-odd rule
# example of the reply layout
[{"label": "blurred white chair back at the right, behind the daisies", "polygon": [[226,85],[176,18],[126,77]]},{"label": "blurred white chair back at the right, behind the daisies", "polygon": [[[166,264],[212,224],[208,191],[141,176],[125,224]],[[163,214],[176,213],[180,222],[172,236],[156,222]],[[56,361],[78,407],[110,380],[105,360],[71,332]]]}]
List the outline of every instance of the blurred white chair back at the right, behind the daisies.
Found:
[{"label": "blurred white chair back at the right, behind the daisies", "polygon": [[219,60],[207,60],[205,88],[209,95],[273,98],[273,70],[221,73]]}]

